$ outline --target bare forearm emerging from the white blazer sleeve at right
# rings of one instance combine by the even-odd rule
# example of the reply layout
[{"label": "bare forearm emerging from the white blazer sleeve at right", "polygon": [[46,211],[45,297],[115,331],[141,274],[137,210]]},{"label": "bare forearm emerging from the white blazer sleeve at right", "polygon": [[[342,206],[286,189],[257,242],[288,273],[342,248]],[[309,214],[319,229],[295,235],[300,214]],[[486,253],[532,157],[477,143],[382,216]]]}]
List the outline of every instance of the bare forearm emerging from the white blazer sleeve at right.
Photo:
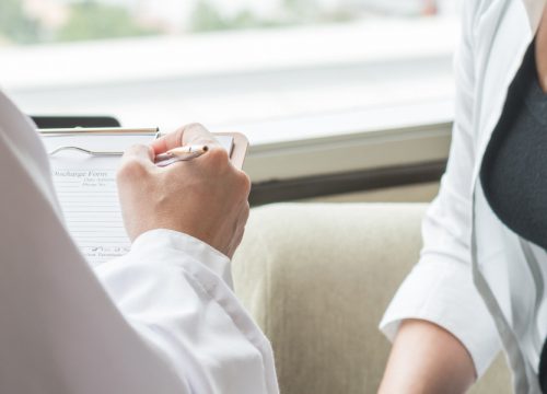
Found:
[{"label": "bare forearm emerging from the white blazer sleeve at right", "polygon": [[473,360],[459,340],[435,324],[407,320],[395,338],[379,392],[465,393],[475,379]]}]

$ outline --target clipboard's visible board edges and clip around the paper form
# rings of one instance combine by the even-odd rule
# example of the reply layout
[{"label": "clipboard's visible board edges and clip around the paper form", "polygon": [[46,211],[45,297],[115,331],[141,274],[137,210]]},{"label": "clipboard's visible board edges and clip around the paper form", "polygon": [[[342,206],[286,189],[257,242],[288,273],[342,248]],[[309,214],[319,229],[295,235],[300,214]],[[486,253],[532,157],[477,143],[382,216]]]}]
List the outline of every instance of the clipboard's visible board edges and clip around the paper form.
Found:
[{"label": "clipboard's visible board edges and clip around the paper form", "polygon": [[[127,128],[127,127],[98,127],[98,128],[51,128],[51,129],[38,129],[38,134],[43,137],[89,137],[89,136],[100,136],[100,137],[150,137],[151,139],[158,139],[163,136],[158,127],[153,128]],[[213,136],[219,137],[218,139],[223,139],[223,137],[232,138],[229,147],[224,141],[219,141],[228,150],[230,155],[230,161],[232,164],[238,169],[243,169],[245,162],[245,155],[248,149],[248,139],[245,135],[241,132],[213,132]],[[124,154],[123,149],[90,149],[80,143],[62,143],[48,151],[49,155],[55,155],[63,151],[77,151],[90,157],[116,157]]]}]

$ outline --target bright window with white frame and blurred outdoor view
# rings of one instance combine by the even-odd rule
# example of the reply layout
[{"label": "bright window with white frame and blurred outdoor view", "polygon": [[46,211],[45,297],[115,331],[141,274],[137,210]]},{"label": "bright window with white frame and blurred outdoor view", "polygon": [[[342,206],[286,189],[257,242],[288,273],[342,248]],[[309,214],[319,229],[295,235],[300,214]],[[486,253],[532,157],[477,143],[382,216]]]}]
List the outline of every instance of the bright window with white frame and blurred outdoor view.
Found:
[{"label": "bright window with white frame and blurred outdoor view", "polygon": [[198,120],[263,148],[445,123],[453,3],[2,0],[0,85],[28,114]]}]

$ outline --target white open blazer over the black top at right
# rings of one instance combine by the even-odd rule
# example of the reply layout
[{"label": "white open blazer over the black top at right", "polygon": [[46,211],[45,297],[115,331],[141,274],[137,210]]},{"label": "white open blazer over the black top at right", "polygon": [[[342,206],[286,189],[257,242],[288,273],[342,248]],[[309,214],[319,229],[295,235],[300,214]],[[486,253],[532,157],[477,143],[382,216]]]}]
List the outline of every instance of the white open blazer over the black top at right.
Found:
[{"label": "white open blazer over the black top at right", "polygon": [[422,224],[420,262],[381,323],[389,338],[405,318],[444,327],[469,350],[479,375],[501,344],[517,393],[539,392],[536,374],[547,338],[547,254],[498,220],[478,173],[544,4],[544,0],[464,1],[447,170]]}]

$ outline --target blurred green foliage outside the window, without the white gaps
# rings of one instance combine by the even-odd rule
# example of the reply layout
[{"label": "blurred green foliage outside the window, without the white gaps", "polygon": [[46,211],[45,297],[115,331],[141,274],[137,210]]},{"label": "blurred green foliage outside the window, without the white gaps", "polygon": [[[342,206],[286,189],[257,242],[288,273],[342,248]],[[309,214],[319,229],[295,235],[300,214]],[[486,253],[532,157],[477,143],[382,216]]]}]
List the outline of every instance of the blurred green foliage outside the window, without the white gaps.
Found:
[{"label": "blurred green foliage outside the window, without the white gaps", "polygon": [[[362,16],[357,0],[339,0],[340,7],[323,7],[314,0],[277,0],[278,12],[256,13],[251,5],[224,12],[231,0],[179,0],[189,4],[181,26],[136,12],[142,0],[0,0],[0,45],[40,44],[103,38],[135,37],[237,28],[344,22]],[[263,0],[257,0],[263,1]],[[274,1],[274,0],[270,0]],[[371,1],[371,0],[368,0]],[[392,0],[393,1],[393,0]],[[410,1],[410,0],[406,0]],[[431,0],[414,0],[431,1]],[[361,0],[362,3],[365,0]],[[333,3],[333,2],[331,2]],[[348,5],[353,4],[353,5]],[[153,2],[161,8],[162,1]],[[361,5],[362,10],[363,7]]]}]

